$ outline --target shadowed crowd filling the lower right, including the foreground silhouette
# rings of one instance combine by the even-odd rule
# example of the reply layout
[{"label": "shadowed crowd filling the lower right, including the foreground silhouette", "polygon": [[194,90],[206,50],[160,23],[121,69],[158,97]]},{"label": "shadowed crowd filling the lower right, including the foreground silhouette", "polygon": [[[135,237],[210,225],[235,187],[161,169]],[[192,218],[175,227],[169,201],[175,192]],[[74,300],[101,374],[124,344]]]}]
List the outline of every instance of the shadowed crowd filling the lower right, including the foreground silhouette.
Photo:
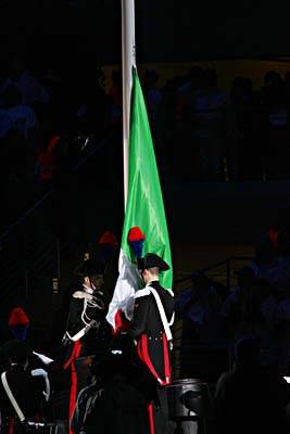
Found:
[{"label": "shadowed crowd filling the lower right, including the foreground silhouette", "polygon": [[176,301],[180,375],[212,383],[217,433],[289,430],[289,241],[281,209],[235,286],[198,273]]}]

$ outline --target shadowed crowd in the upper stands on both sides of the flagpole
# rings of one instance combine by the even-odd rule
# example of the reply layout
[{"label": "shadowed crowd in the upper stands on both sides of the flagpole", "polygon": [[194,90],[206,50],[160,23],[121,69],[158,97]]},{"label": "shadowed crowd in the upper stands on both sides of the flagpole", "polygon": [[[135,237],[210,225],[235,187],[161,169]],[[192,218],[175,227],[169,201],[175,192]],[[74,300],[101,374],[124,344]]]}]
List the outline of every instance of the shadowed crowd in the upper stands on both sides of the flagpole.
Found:
[{"label": "shadowed crowd in the upper stands on both sides of the flagpole", "polygon": [[[162,88],[159,74],[147,69],[141,81],[165,180],[289,178],[289,77],[268,72],[260,91],[236,77],[226,92],[213,69],[193,66]],[[105,77],[87,61],[35,75],[15,54],[1,66],[0,110],[5,192],[9,182],[68,170],[87,137],[99,141],[122,129],[121,72]]]}]

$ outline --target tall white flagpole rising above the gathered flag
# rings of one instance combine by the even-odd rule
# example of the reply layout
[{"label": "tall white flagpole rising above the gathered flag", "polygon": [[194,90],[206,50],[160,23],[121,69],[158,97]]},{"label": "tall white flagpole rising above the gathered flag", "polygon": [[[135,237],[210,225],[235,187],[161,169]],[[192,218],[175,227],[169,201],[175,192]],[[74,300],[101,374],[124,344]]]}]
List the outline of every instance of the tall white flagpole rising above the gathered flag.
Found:
[{"label": "tall white flagpole rising above the gathered flag", "polygon": [[130,135],[130,97],[133,67],[136,66],[135,51],[135,0],[122,1],[122,74],[123,74],[123,158],[124,158],[124,205],[128,196],[128,150]]}]

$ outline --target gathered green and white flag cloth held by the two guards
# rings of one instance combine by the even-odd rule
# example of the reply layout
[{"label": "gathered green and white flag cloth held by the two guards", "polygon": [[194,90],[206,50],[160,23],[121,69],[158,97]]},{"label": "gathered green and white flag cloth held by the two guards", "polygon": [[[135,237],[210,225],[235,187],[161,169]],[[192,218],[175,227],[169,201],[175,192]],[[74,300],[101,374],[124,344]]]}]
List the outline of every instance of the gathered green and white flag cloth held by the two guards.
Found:
[{"label": "gathered green and white flag cloth held by the two guards", "polygon": [[144,234],[142,256],[155,253],[171,267],[161,273],[160,283],[172,288],[172,255],[168,231],[160,187],[154,148],[146,111],[144,99],[137,73],[133,78],[130,135],[128,155],[128,199],[118,259],[118,279],[106,320],[115,328],[116,314],[133,317],[134,294],[142,286],[136,257],[128,243],[129,230],[139,227]]}]

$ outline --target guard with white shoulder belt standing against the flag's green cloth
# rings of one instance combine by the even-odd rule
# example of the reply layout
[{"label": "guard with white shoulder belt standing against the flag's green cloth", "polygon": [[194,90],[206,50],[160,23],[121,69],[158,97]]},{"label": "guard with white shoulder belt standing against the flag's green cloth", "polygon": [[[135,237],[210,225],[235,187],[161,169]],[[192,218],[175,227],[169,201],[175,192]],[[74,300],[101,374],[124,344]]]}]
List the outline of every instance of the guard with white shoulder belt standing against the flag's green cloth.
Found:
[{"label": "guard with white shoulder belt standing against the flag's green cloth", "polygon": [[[167,432],[167,403],[164,386],[171,383],[171,326],[174,321],[174,296],[159,282],[160,272],[169,269],[156,254],[148,253],[138,259],[138,268],[146,284],[135,294],[135,311],[128,334],[137,343],[140,361],[150,373],[149,420],[151,433]],[[152,384],[154,387],[152,388]],[[150,396],[151,395],[151,396]]]}]

